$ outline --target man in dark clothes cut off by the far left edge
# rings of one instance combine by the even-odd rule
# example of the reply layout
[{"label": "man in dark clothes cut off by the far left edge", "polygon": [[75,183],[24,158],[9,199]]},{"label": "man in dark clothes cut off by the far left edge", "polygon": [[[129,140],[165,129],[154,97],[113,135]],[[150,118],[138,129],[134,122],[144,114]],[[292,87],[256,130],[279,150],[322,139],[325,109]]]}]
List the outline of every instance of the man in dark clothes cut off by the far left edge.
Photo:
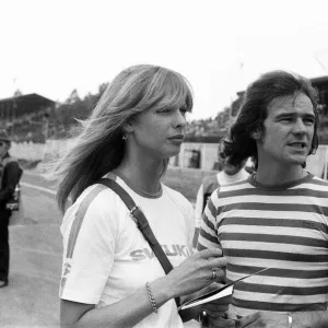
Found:
[{"label": "man in dark clothes cut off by the far left edge", "polygon": [[0,288],[8,285],[9,274],[9,219],[11,210],[7,202],[12,197],[22,175],[17,162],[10,157],[10,139],[0,132]]}]

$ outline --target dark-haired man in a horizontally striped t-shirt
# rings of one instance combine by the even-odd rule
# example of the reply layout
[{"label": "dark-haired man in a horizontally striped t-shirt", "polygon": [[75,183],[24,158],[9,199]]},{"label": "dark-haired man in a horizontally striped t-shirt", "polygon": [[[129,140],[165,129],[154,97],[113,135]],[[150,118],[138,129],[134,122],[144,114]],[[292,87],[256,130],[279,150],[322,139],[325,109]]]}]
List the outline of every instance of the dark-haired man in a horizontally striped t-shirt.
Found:
[{"label": "dark-haired man in a horizontally striped t-shirt", "polygon": [[269,268],[236,283],[238,327],[328,327],[328,183],[304,169],[317,127],[306,79],[273,71],[248,86],[225,154],[234,165],[254,157],[257,172],[212,194],[198,239],[199,250],[222,248],[227,282]]}]

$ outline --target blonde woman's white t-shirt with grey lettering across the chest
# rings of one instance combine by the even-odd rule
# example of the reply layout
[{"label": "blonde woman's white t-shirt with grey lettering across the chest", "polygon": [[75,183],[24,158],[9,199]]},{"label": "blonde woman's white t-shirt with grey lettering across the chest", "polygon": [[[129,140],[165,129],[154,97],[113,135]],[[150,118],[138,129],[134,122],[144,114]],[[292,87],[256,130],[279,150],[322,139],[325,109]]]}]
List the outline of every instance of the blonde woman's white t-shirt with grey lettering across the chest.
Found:
[{"label": "blonde woman's white t-shirt with grey lettering across the chest", "polygon": [[[179,192],[162,185],[147,198],[115,176],[148,219],[174,267],[191,254],[194,209]],[[83,203],[93,198],[84,215]],[[82,206],[81,202],[86,199]],[[84,206],[85,207],[85,206]],[[83,191],[65,214],[62,278],[59,296],[105,306],[118,302],[165,272],[118,195],[103,185]],[[136,327],[184,327],[174,300]]]}]

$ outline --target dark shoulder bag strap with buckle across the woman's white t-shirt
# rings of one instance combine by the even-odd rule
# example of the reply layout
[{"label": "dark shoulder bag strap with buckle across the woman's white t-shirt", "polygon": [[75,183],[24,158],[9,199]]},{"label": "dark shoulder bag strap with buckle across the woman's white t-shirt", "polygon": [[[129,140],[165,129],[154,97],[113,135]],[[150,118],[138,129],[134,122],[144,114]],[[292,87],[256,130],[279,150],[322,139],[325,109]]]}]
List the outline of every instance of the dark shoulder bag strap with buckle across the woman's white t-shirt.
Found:
[{"label": "dark shoulder bag strap with buckle across the woman's white t-shirt", "polygon": [[[172,269],[173,266],[169,262],[167,256],[165,255],[163,248],[161,247],[160,243],[157,242],[151,226],[149,225],[149,222],[142,211],[139,207],[136,206],[133,199],[131,196],[115,180],[108,179],[108,178],[102,178],[96,184],[102,184],[113,191],[115,191],[120,199],[124,201],[124,203],[129,209],[132,218],[134,219],[137,226],[139,227],[140,232],[144,236],[144,238],[148,241],[150,247],[153,249],[155,256],[157,257],[160,263],[162,265],[165,273],[167,274]],[[175,298],[175,302],[177,306],[179,306],[179,298]]]}]

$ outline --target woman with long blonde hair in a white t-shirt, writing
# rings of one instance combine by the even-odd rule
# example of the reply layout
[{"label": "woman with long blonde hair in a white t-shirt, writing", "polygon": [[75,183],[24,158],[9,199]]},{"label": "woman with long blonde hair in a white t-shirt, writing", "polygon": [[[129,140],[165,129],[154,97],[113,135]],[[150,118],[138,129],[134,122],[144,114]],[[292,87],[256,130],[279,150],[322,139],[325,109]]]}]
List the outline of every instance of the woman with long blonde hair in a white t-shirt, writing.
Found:
[{"label": "woman with long blonde hair in a white t-shirt, writing", "polygon": [[[211,284],[221,250],[190,256],[192,207],[161,184],[184,140],[192,107],[185,79],[134,66],[108,85],[57,166],[58,203],[67,210],[60,286],[62,327],[183,327],[174,297]],[[115,179],[139,206],[175,267],[165,276],[121,199],[95,184]]]}]

